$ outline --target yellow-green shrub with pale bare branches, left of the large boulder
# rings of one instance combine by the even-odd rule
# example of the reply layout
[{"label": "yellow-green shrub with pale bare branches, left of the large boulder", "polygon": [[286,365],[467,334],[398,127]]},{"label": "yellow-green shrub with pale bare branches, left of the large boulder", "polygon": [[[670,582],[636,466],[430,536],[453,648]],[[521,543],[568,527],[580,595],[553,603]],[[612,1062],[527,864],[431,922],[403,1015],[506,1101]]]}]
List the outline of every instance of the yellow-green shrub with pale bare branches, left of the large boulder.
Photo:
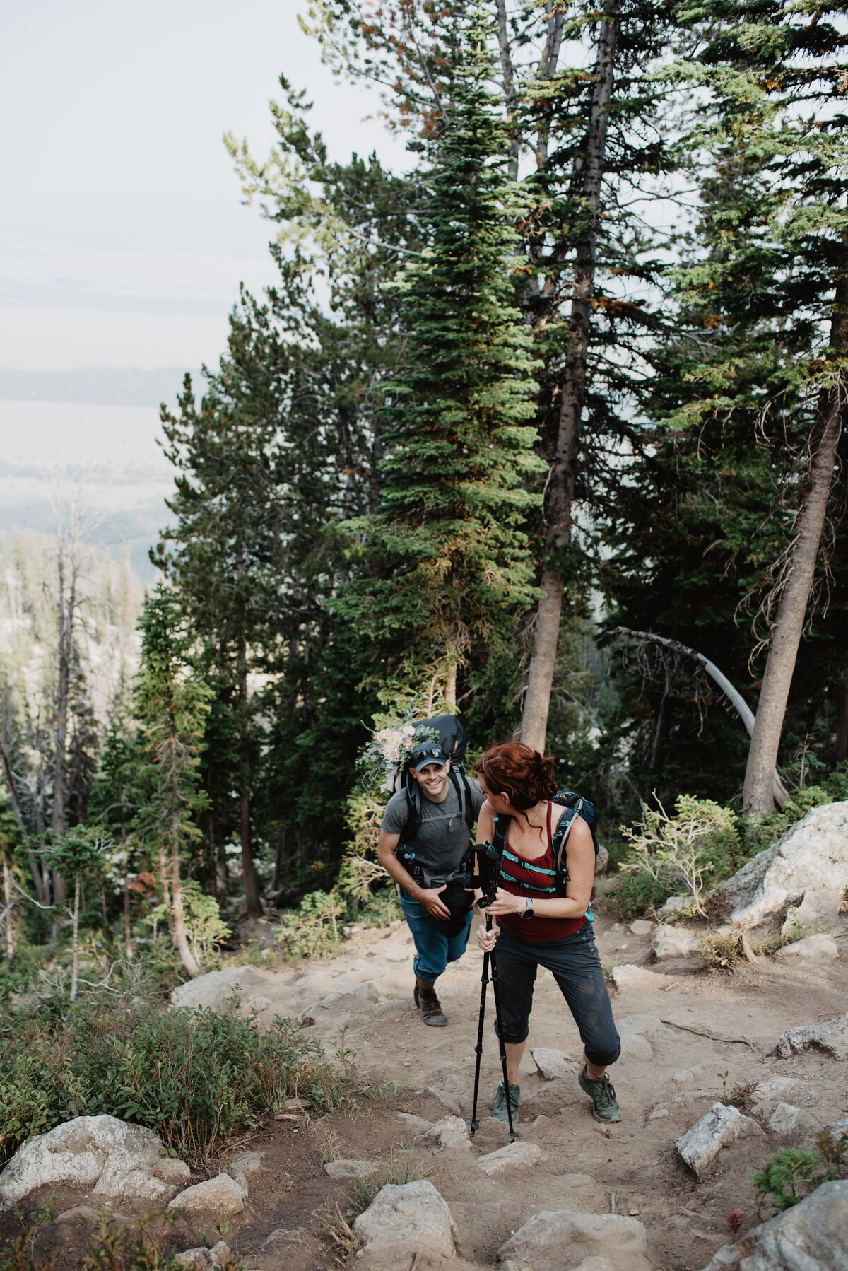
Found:
[{"label": "yellow-green shrub with pale bare branches, left of the large boulder", "polygon": [[690,794],[678,797],[674,816],[660,803],[656,811],[645,811],[636,830],[620,829],[631,844],[622,862],[629,874],[631,888],[623,895],[631,907],[642,897],[656,904],[679,892],[692,896],[695,913],[704,914],[708,885],[732,872],[739,852],[735,813]]}]

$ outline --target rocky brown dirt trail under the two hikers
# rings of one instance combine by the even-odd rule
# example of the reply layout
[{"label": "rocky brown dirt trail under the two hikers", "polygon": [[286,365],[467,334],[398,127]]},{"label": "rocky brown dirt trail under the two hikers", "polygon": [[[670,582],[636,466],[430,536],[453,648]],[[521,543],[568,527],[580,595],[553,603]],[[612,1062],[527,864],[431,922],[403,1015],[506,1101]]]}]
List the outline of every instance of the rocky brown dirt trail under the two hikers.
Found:
[{"label": "rocky brown dirt trail under the two hikers", "polygon": [[[848,935],[848,923],[840,920],[834,934]],[[545,1209],[638,1216],[653,1260],[667,1271],[706,1266],[730,1239],[726,1215],[732,1210],[742,1213],[742,1233],[756,1225],[760,1218],[748,1174],[791,1140],[772,1135],[742,1140],[722,1150],[701,1182],[680,1163],[674,1143],[722,1097],[725,1082],[730,1091],[791,1078],[796,1084],[784,1087],[772,1103],[782,1098],[806,1107],[819,1121],[845,1116],[848,1063],[815,1051],[788,1060],[774,1055],[786,1028],[848,1009],[840,962],[763,958],[734,975],[717,975],[693,957],[652,965],[648,937],[633,935],[608,916],[599,916],[596,935],[605,967],[645,969],[632,975],[631,985],[613,990],[623,1054],[612,1077],[623,1121],[598,1125],[576,1075],[545,1080],[535,1071],[534,1046],[553,1047],[572,1060],[581,1054],[559,991],[540,971],[521,1074],[519,1130],[523,1141],[539,1144],[542,1159],[495,1178],[477,1167],[477,1158],[506,1143],[500,1122],[484,1120],[470,1148],[434,1152],[434,1140],[416,1136],[398,1116],[413,1112],[435,1121],[448,1113],[445,1104],[463,1117],[470,1115],[481,975],[473,937],[463,960],[439,984],[448,1028],[427,1028],[413,1007],[413,947],[406,927],[361,933],[342,957],[300,970],[239,967],[183,986],[179,1000],[186,1005],[220,1005],[238,981],[244,1008],[257,1009],[261,1018],[306,1012],[315,1019],[310,1032],[328,1047],[350,1047],[362,1073],[404,1088],[355,1116],[276,1122],[264,1143],[254,1144],[264,1155],[262,1173],[250,1181],[252,1213],[234,1223],[228,1237],[247,1265],[258,1271],[332,1265],[313,1215],[328,1199],[341,1196],[345,1207],[353,1185],[332,1182],[323,1162],[385,1160],[393,1150],[409,1150],[413,1168],[445,1196],[462,1256],[479,1267],[492,1267],[510,1232]],[[489,989],[482,1116],[491,1108],[500,1077],[492,1019]],[[267,1238],[280,1228],[290,1234],[268,1246]]]}]

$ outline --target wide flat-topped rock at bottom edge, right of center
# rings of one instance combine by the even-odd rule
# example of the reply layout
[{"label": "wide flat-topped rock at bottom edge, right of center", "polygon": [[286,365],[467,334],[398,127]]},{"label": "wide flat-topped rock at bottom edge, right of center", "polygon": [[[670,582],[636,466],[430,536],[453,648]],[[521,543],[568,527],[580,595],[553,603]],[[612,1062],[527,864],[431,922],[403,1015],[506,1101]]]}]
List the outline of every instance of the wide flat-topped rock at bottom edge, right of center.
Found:
[{"label": "wide flat-topped rock at bottom edge, right of center", "polygon": [[618,1214],[543,1210],[501,1246],[498,1257],[533,1271],[653,1271],[645,1227]]}]

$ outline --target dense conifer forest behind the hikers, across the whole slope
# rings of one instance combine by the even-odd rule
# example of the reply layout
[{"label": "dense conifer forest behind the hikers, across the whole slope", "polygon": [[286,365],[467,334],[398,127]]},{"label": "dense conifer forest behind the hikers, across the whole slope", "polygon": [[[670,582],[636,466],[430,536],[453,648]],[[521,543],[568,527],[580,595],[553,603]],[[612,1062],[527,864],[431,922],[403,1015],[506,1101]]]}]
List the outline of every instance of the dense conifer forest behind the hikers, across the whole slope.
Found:
[{"label": "dense conifer forest behind the hikers, across the whole slope", "polygon": [[720,880],[848,793],[844,4],[303,23],[408,161],[331,159],[281,65],[272,151],[226,137],[276,282],[163,407],[155,580],[84,507],[3,539],[6,999],[394,919],[357,760],[409,718],[551,754],[632,914],[679,883],[622,827],[712,810]]}]

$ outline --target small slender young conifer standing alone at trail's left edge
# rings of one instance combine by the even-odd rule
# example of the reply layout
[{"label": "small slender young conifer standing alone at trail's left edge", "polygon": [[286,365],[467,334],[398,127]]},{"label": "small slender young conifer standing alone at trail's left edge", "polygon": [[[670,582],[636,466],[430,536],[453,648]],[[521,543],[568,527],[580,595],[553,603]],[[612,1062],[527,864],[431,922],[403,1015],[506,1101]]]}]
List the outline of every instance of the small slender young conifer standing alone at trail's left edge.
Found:
[{"label": "small slender young conifer standing alone at trail's left edge", "polygon": [[193,977],[200,967],[186,934],[181,862],[201,838],[197,817],[207,806],[198,769],[211,691],[192,665],[191,636],[172,588],[159,583],[150,592],[140,628],[136,714],[145,803],[135,824],[158,862],[174,948]]}]

